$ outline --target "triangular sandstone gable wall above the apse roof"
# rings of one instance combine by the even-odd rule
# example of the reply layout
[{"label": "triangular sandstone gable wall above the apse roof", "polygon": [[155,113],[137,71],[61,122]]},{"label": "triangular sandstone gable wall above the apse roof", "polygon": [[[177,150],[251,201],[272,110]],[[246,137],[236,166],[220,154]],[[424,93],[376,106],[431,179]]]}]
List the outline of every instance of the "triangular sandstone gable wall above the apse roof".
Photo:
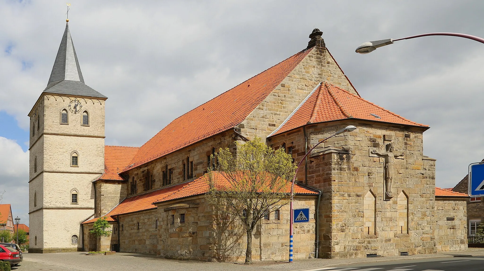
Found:
[{"label": "triangular sandstone gable wall above the apse roof", "polygon": [[357,94],[348,78],[326,48],[313,47],[311,52],[277,86],[271,94],[242,121],[241,132],[249,138],[271,134],[301,104],[319,82],[333,84]]}]

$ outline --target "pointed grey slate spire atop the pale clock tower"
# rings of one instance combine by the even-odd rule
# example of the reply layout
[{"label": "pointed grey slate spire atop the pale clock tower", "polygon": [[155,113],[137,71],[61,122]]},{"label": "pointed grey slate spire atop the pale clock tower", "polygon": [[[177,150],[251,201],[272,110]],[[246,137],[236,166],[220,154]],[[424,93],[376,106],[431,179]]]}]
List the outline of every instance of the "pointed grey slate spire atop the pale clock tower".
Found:
[{"label": "pointed grey slate spire atop the pale clock tower", "polygon": [[71,32],[69,31],[69,23],[65,25],[56,61],[44,92],[107,98],[84,83],[76,49],[74,49]]}]

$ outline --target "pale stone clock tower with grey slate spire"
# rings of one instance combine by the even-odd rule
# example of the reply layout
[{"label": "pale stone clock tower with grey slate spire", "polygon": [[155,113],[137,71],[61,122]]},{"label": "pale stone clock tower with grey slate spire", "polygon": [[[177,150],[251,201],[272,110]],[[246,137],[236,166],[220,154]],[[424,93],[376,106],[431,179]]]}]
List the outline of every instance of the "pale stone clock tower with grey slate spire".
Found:
[{"label": "pale stone clock tower with grey slate spire", "polygon": [[80,223],[94,214],[104,172],[107,97],[84,83],[66,24],[47,87],[29,113],[30,253],[82,248]]}]

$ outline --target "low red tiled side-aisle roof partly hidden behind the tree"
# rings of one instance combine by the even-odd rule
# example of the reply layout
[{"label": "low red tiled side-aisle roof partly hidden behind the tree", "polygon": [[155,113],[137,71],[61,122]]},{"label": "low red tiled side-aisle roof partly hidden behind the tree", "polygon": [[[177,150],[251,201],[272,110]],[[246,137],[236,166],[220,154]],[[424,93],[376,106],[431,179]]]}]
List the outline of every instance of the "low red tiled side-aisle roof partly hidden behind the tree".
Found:
[{"label": "low red tiled side-aisle roof partly hidden behind the tree", "polygon": [[[214,172],[218,176],[222,176],[220,173]],[[196,180],[176,184],[170,187],[155,190],[153,192],[125,198],[118,204],[113,210],[107,212],[103,217],[107,217],[108,221],[115,221],[113,218],[116,215],[136,212],[136,211],[146,211],[150,209],[156,209],[153,203],[164,202],[172,199],[187,197],[187,196],[197,196],[208,192],[209,185],[206,181],[207,176],[204,175]],[[222,180],[218,178],[217,180]],[[287,187],[287,193],[290,192],[290,186]],[[318,192],[304,188],[298,184],[294,186],[294,192],[296,194],[312,194],[316,195]],[[98,219],[92,218],[88,221],[83,222],[83,224],[94,222]]]}]

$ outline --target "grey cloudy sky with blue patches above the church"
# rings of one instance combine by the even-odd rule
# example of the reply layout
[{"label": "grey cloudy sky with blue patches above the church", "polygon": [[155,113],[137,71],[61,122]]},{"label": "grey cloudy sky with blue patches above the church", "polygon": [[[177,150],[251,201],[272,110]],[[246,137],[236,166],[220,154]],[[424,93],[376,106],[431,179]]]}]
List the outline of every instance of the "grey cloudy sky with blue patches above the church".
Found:
[{"label": "grey cloudy sky with blue patches above the church", "polygon": [[[28,222],[28,112],[65,28],[65,0],[0,0],[0,191]],[[437,186],[484,158],[482,1],[71,1],[86,84],[109,97],[106,144],[140,146],[167,123],[305,48],[313,28],[363,98],[431,126]]]}]

